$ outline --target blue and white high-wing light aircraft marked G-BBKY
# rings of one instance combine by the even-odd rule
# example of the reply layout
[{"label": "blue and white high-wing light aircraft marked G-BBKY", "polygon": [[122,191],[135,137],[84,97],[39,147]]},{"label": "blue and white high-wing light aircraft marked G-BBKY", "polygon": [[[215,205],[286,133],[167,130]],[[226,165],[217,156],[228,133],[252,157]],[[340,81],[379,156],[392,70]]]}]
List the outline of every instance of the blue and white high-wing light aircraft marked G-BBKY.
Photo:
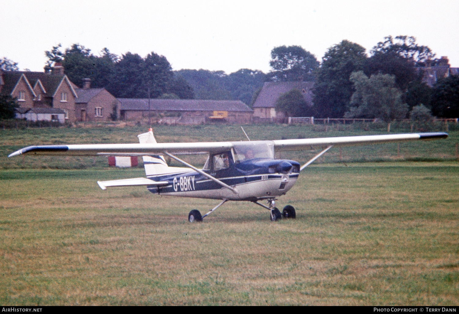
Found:
[{"label": "blue and white high-wing light aircraft marked G-BBKY", "polygon": [[[245,133],[245,132],[244,132]],[[221,200],[204,216],[193,209],[188,220],[202,221],[227,201],[249,201],[268,209],[272,221],[295,218],[295,208],[287,205],[282,213],[275,207],[278,196],[285,195],[297,182],[301,170],[334,146],[395,143],[409,140],[436,140],[446,133],[367,135],[296,140],[257,140],[239,142],[157,143],[152,129],[138,135],[140,144],[88,144],[28,146],[9,157],[30,155],[142,156],[145,178],[98,181],[102,190],[112,186],[145,185],[153,194]],[[307,163],[274,159],[274,151],[322,149]],[[202,169],[180,159],[184,154],[208,154]],[[169,167],[164,156],[186,168]],[[260,201],[268,201],[268,205]]]}]

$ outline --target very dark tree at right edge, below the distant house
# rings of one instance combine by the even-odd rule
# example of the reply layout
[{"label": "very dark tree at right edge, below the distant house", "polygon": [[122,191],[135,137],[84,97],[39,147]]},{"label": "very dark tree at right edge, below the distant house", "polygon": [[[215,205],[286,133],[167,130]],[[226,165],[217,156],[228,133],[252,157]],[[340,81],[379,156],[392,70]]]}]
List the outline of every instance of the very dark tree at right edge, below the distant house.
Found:
[{"label": "very dark tree at right edge, below the distant house", "polygon": [[459,117],[459,76],[451,75],[437,81],[432,90],[431,108],[438,117]]}]

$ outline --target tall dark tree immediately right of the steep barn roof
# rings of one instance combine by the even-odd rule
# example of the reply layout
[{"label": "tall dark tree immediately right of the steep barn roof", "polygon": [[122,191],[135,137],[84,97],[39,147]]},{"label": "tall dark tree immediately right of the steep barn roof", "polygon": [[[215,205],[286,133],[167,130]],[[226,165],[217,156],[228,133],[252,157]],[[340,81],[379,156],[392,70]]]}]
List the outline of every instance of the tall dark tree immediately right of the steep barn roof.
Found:
[{"label": "tall dark tree immediately right of the steep barn roof", "polygon": [[343,40],[330,47],[317,69],[313,90],[314,116],[342,118],[353,94],[351,73],[362,70],[367,56],[365,48]]}]

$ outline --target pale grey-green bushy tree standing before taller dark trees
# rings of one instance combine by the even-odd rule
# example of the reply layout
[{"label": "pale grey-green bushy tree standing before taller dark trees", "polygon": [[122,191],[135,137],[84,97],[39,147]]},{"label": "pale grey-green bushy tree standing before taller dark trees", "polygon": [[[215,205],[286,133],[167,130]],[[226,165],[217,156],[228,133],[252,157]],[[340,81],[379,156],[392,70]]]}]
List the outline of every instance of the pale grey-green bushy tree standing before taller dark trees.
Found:
[{"label": "pale grey-green bushy tree standing before taller dark trees", "polygon": [[402,92],[396,87],[395,77],[389,74],[373,74],[368,78],[363,71],[350,77],[355,92],[350,101],[346,118],[380,118],[387,123],[405,118],[408,105],[402,101]]}]

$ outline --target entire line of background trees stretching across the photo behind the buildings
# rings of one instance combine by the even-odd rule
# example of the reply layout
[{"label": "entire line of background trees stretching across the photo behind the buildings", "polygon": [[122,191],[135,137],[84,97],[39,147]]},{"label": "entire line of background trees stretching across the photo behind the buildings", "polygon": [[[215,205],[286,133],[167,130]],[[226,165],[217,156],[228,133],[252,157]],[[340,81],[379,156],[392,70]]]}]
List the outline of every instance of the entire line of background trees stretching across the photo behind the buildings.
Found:
[{"label": "entire line of background trees stretching across the photo behind the buildings", "polygon": [[[165,56],[155,52],[142,57],[122,56],[104,48],[98,56],[83,45],[45,51],[47,66],[62,63],[69,79],[82,87],[90,78],[92,87],[103,87],[120,98],[230,99],[252,105],[264,82],[313,81],[313,106],[298,90],[281,95],[279,110],[291,116],[317,118],[381,118],[459,116],[459,78],[442,78],[430,87],[424,71],[441,59],[410,36],[387,36],[367,55],[364,47],[343,40],[331,46],[319,62],[301,46],[271,50],[271,71],[240,69],[224,71],[181,69],[173,71]],[[17,63],[0,59],[3,70],[17,71]],[[422,116],[422,115],[421,115]]]}]

